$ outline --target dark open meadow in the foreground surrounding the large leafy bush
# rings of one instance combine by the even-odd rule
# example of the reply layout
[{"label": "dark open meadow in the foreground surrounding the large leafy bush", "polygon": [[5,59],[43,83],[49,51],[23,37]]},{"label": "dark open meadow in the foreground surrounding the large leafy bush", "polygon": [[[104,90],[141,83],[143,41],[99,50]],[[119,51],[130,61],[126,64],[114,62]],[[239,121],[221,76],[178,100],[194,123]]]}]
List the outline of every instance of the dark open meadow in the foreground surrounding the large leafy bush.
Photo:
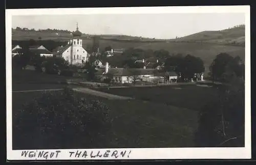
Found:
[{"label": "dark open meadow in the foreground surrounding the large leafy bush", "polygon": [[[22,104],[40,96],[40,92],[13,93],[13,115]],[[104,141],[92,142],[94,148],[141,148],[141,147],[195,147],[194,133],[198,127],[197,112],[162,103],[143,102],[140,100],[106,100],[90,95],[78,94],[80,97],[100,99],[111,109],[112,128],[103,134]],[[31,123],[33,124],[33,123]],[[18,143],[19,136],[13,130],[13,149],[54,149],[61,146],[46,146],[44,143]],[[72,136],[72,135],[70,135]],[[63,137],[68,142],[69,137]],[[81,146],[81,137],[76,144],[67,148],[88,148]],[[44,145],[42,145],[44,144]]]}]

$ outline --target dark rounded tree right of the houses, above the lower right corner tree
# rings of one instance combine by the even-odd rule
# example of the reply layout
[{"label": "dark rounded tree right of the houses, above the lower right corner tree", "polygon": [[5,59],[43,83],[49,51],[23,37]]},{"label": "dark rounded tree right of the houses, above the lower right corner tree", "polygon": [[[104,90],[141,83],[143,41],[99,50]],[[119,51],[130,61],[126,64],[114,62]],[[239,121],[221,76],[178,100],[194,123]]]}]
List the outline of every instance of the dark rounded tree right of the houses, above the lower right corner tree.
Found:
[{"label": "dark rounded tree right of the houses, above the lower right corner tree", "polygon": [[227,53],[220,53],[211,63],[209,70],[212,75],[212,81],[221,80],[223,73],[226,71],[227,65],[233,60]]}]

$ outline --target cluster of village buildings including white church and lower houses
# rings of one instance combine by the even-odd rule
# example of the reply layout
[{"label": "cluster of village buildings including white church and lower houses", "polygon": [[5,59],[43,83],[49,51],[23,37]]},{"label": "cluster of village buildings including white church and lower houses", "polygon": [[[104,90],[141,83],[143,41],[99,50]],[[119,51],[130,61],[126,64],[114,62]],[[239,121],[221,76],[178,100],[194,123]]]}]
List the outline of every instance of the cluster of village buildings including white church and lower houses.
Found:
[{"label": "cluster of village buildings including white church and lower houses", "polygon": [[[176,84],[177,80],[181,75],[175,72],[175,69],[172,71],[165,71],[164,63],[159,63],[158,59],[153,61],[152,59],[139,59],[135,60],[134,64],[138,64],[141,68],[118,68],[112,66],[108,62],[109,57],[115,56],[116,53],[122,53],[123,49],[113,49],[107,50],[104,52],[106,56],[105,60],[99,59],[99,43],[94,45],[95,52],[89,54],[87,50],[82,46],[82,33],[78,29],[72,34],[72,38],[67,42],[67,45],[61,45],[53,49],[50,52],[44,45],[32,45],[29,46],[29,51],[32,56],[39,55],[40,57],[56,57],[65,59],[69,65],[79,66],[81,69],[78,69],[77,72],[80,74],[86,72],[86,69],[83,66],[89,62],[89,58],[93,57],[94,61],[92,65],[95,67],[95,85],[104,86],[106,79],[109,79],[109,85],[118,85],[127,86],[127,84],[134,85],[167,85],[167,84]],[[95,41],[94,41],[95,42]],[[22,53],[23,48],[19,45],[12,46],[12,57],[17,54]],[[175,67],[175,66],[174,66]],[[33,69],[33,66],[27,66],[26,68]],[[44,70],[44,69],[42,69]],[[60,73],[59,73],[60,74]],[[204,73],[194,73],[194,77],[188,80],[189,82],[194,81],[204,81]],[[101,83],[97,83],[101,82]],[[82,82],[83,85],[91,85],[92,82]],[[105,84],[106,85],[106,84]]]}]

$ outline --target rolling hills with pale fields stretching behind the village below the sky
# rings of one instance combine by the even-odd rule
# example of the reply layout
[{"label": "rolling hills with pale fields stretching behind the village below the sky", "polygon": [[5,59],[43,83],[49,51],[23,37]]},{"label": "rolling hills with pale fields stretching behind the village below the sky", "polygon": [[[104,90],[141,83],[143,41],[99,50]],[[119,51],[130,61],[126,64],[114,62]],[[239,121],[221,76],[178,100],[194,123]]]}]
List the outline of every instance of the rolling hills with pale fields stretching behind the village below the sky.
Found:
[{"label": "rolling hills with pale fields stretching behind the village below the sky", "polygon": [[[70,33],[47,33],[12,30],[12,40],[53,40],[68,41],[72,35]],[[92,36],[83,34],[83,45],[92,45]],[[170,40],[158,40],[150,38],[140,38],[125,35],[101,35],[100,49],[106,46],[112,48],[141,48],[168,50],[170,54],[191,54],[200,57],[205,64],[205,72],[208,72],[212,60],[221,52],[226,52],[231,56],[239,56],[244,60],[245,57],[245,26],[240,25],[222,31],[204,31],[189,36]]]}]

